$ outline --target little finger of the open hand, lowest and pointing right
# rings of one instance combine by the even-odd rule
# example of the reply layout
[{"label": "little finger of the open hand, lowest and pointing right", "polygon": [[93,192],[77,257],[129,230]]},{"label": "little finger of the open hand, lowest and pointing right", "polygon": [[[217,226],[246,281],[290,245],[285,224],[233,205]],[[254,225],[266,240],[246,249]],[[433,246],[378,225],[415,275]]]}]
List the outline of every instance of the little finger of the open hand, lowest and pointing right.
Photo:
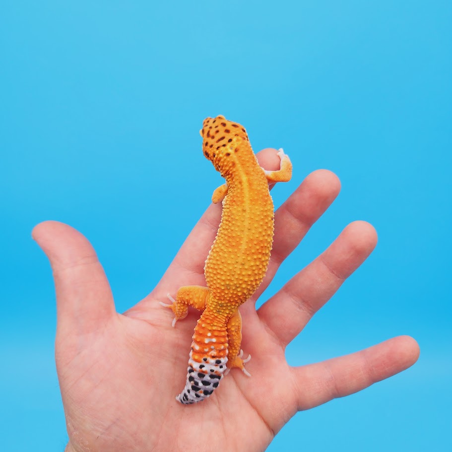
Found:
[{"label": "little finger of the open hand, lowest and pointing right", "polygon": [[293,368],[299,410],[353,394],[412,366],[419,346],[398,336],[351,355]]}]

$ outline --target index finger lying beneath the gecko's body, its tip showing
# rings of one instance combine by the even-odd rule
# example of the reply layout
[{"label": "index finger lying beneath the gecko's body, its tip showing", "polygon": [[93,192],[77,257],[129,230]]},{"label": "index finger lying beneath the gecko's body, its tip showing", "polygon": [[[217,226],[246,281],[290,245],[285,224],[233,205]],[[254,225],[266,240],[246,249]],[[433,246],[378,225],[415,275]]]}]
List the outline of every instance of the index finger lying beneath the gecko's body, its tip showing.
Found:
[{"label": "index finger lying beneath the gecko's body, its tip showing", "polygon": [[[265,169],[279,168],[280,158],[275,149],[263,149],[258,152],[257,158],[259,165]],[[206,198],[210,196],[209,193]],[[166,298],[169,291],[183,285],[205,285],[204,263],[218,231],[221,210],[221,203],[209,205],[154,289],[155,298]]]}]

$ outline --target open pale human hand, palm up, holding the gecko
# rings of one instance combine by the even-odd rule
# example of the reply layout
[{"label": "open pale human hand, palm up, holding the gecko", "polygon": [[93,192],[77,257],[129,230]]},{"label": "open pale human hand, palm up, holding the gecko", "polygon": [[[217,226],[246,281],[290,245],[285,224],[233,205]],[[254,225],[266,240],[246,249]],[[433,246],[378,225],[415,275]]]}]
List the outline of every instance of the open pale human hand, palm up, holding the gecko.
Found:
[{"label": "open pale human hand, palm up, holding the gecko", "polygon": [[[258,160],[265,169],[279,167],[274,149],[261,151]],[[199,312],[190,308],[173,328],[173,313],[158,302],[181,286],[205,285],[203,266],[221,203],[208,207],[158,285],[124,314],[115,310],[107,277],[87,239],[63,223],[37,225],[33,238],[50,259],[57,293],[56,362],[69,436],[66,451],[264,451],[297,411],[357,392],[414,364],[419,348],[409,336],[301,367],[285,360],[287,344],[374,249],[376,232],[366,222],[349,224],[255,309],[281,262],[339,189],[334,174],[315,171],[276,211],[265,279],[240,308],[242,348],[253,356],[247,363],[252,377],[233,369],[212,396],[190,406],[175,396],[184,387]],[[156,233],[150,230],[149,240],[157,240]]]}]

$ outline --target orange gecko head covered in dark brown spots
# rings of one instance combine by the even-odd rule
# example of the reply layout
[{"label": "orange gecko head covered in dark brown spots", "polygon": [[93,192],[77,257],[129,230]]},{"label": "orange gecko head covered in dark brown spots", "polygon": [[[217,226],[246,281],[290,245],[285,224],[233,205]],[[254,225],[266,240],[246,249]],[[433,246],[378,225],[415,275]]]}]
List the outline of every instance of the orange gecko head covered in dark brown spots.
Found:
[{"label": "orange gecko head covered in dark brown spots", "polygon": [[248,141],[245,128],[224,116],[206,118],[199,133],[202,136],[202,152],[217,171],[224,166],[225,157],[233,152],[238,142]]}]

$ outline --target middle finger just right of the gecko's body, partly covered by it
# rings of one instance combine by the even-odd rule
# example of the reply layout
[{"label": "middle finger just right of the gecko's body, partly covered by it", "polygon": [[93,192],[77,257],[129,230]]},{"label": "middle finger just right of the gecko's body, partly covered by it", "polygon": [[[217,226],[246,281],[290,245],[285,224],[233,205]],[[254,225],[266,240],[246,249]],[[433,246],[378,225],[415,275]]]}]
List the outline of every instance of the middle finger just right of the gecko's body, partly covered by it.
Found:
[{"label": "middle finger just right of the gecko's body, partly covered by it", "polygon": [[253,299],[258,299],[276,271],[297,247],[311,226],[323,215],[339,194],[340,182],[328,170],[317,170],[306,177],[298,189],[275,212],[275,234],[270,262],[262,284]]}]

